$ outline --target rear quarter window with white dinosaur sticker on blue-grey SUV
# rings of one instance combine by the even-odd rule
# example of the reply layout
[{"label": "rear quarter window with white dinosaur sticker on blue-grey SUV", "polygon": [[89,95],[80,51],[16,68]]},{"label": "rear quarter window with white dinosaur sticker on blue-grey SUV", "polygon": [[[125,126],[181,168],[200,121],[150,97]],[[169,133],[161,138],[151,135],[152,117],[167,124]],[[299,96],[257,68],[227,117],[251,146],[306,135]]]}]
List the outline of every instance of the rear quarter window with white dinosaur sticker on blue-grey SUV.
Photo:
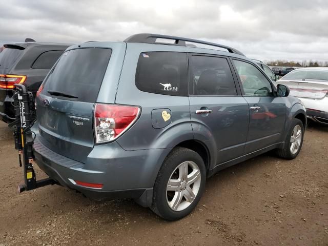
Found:
[{"label": "rear quarter window with white dinosaur sticker on blue-grey SUV", "polygon": [[187,53],[143,52],[139,56],[135,84],[141,91],[187,96]]}]

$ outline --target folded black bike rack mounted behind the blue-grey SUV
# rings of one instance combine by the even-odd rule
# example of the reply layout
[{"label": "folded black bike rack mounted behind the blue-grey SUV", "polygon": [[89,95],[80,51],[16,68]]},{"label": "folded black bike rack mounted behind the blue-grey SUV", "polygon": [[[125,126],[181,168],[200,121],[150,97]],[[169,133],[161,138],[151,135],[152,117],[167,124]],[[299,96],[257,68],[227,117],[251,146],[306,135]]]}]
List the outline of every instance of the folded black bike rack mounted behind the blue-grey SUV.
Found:
[{"label": "folded black bike rack mounted behind the blue-grey SUV", "polygon": [[15,121],[8,126],[14,129],[15,149],[18,150],[19,167],[24,169],[24,185],[18,185],[18,193],[34,190],[40,187],[54,185],[56,180],[51,178],[36,180],[33,169],[35,155],[33,150],[32,126],[36,122],[35,110],[33,110],[33,94],[26,90],[24,85],[15,84],[13,105],[15,107]]}]

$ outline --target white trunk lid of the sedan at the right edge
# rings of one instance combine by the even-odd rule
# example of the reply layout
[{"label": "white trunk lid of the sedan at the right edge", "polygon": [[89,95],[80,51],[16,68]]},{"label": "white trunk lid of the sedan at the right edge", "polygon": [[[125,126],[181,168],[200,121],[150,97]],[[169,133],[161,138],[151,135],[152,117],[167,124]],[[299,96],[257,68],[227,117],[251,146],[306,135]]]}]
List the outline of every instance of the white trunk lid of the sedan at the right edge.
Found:
[{"label": "white trunk lid of the sedan at the right edge", "polygon": [[296,97],[321,99],[328,93],[328,81],[324,80],[279,80],[278,84],[288,86],[290,94]]}]

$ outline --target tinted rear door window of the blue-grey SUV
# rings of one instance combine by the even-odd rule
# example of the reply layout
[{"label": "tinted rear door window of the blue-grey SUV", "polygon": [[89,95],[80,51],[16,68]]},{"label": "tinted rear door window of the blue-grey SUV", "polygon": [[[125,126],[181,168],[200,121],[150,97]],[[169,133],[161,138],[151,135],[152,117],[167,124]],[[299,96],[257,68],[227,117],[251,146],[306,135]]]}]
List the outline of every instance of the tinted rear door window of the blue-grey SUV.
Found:
[{"label": "tinted rear door window of the blue-grey SUV", "polygon": [[237,95],[226,58],[192,56],[194,95]]}]

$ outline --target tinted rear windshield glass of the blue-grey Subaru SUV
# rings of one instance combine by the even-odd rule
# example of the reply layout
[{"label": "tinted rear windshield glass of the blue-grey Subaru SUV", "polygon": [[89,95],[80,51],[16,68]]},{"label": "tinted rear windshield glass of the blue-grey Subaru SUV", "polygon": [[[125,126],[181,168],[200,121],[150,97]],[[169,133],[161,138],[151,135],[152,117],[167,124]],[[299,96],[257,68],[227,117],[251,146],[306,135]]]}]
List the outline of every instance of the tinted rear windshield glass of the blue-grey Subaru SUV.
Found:
[{"label": "tinted rear windshield glass of the blue-grey Subaru SUV", "polygon": [[105,48],[66,51],[45,80],[43,93],[58,92],[95,103],[111,54]]}]

